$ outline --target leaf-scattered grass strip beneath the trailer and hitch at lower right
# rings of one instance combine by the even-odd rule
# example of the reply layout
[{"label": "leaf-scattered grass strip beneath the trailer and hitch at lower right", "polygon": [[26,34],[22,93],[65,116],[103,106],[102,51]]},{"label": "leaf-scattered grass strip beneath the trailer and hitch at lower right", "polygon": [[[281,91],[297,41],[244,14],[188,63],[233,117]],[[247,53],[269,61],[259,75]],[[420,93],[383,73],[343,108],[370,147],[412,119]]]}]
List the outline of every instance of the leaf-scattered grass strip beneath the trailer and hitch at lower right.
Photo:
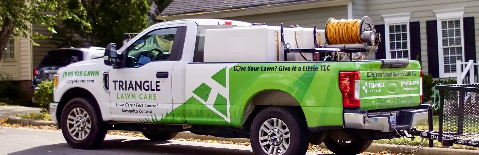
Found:
[{"label": "leaf-scattered grass strip beneath the trailer and hitch at lower right", "polygon": [[[429,125],[426,123],[423,123],[423,124],[418,124],[416,126],[416,128],[418,130],[427,130],[429,128]],[[439,129],[439,116],[438,115],[435,115],[433,116],[433,130],[438,130]],[[409,145],[414,145],[414,146],[418,146],[421,144],[421,140],[422,138],[420,136],[416,136],[416,138],[414,138],[414,141],[411,141],[410,138],[406,138],[406,139],[399,139],[399,138],[395,138],[395,140],[398,142],[399,145],[405,145],[406,142],[408,142]],[[404,142],[404,140],[406,142]],[[443,146],[441,145],[441,143],[437,140],[434,140],[434,147],[442,147],[442,148],[456,148],[456,149],[468,149],[468,150],[479,150],[479,148],[477,147],[472,147],[472,146],[466,146],[466,145],[454,145],[454,146],[451,146],[451,147],[446,147],[446,146]],[[395,144],[394,141],[391,139],[381,139],[381,140],[375,140],[374,143],[379,143],[379,144]],[[425,139],[424,140],[424,144],[423,144],[424,147],[428,147],[429,146],[429,140],[428,139]]]}]

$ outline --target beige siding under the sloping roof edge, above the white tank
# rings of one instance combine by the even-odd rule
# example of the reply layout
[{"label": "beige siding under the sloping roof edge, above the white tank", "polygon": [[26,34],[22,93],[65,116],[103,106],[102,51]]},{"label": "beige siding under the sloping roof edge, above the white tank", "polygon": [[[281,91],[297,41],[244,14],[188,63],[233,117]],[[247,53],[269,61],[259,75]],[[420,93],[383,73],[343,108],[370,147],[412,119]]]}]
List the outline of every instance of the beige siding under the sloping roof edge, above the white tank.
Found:
[{"label": "beige siding under the sloping roof edge, above the white tank", "polygon": [[323,29],[329,18],[347,19],[347,6],[334,6],[326,8],[315,8],[306,10],[294,10],[287,12],[265,13],[250,16],[239,16],[226,18],[229,20],[265,23],[266,25],[279,26],[299,25],[301,27],[313,27]]}]

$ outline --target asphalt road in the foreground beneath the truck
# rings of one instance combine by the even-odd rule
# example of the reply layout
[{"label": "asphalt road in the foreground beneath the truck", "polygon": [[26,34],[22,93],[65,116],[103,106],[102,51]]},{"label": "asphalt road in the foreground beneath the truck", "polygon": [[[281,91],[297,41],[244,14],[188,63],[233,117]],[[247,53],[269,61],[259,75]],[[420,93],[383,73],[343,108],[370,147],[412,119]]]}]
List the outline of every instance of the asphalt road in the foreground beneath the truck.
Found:
[{"label": "asphalt road in the foreground beneath the truck", "polygon": [[[150,142],[107,135],[97,150],[71,148],[60,131],[0,127],[0,155],[254,155],[251,146],[187,141]],[[328,155],[308,153],[307,155]]]}]

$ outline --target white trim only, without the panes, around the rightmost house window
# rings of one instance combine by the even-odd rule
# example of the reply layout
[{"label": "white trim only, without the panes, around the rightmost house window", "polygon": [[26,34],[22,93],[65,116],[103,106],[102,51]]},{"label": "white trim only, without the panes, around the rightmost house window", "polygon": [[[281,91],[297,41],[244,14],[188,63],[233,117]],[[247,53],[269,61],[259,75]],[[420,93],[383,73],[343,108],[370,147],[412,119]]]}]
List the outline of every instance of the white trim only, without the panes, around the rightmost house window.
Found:
[{"label": "white trim only, without the panes, around the rightmost house window", "polygon": [[459,19],[461,24],[461,45],[462,45],[462,61],[466,60],[466,55],[464,51],[464,23],[462,18],[464,16],[465,8],[454,8],[454,9],[443,9],[443,10],[433,10],[437,19],[437,52],[439,57],[439,77],[440,78],[449,78],[457,77],[457,72],[444,72],[444,52],[443,52],[443,35],[442,35],[442,21],[449,21],[454,19]]}]

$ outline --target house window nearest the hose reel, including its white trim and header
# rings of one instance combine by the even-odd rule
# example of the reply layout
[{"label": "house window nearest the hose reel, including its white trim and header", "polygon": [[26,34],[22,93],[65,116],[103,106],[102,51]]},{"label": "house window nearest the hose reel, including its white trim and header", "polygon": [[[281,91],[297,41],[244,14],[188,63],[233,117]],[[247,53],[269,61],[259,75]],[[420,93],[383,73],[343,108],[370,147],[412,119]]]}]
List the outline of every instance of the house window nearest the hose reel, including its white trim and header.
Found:
[{"label": "house window nearest the hose reel, including its white trim and header", "polygon": [[386,59],[410,59],[409,19],[411,12],[382,15],[386,35]]}]

